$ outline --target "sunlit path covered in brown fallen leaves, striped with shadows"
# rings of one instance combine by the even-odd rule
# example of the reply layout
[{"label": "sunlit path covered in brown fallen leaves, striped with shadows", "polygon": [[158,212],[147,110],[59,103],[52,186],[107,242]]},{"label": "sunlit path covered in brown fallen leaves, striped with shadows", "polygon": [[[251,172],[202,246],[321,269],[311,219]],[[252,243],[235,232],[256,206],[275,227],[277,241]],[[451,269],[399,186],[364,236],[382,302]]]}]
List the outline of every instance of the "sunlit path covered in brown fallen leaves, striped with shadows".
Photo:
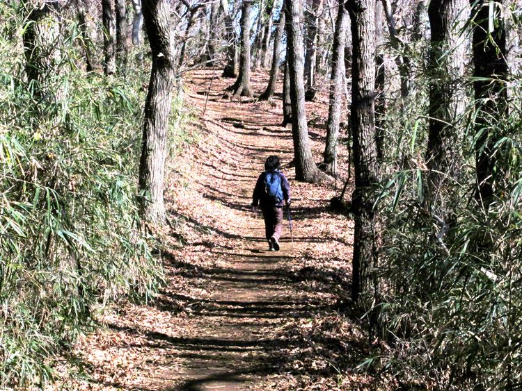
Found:
[{"label": "sunlit path covered in brown fallen leaves, striped with shadows", "polygon": [[[104,328],[74,349],[89,378],[64,380],[65,388],[374,388],[356,367],[375,347],[354,317],[340,313],[349,296],[353,223],[329,207],[334,183],[295,181],[280,97],[223,99],[233,81],[220,74],[198,70],[185,81],[189,130],[199,135],[169,163],[174,228],[164,233],[166,285],[148,304],[125,301],[104,313]],[[253,74],[253,89],[262,92],[267,79]],[[320,161],[325,93],[307,110]],[[270,154],[280,156],[292,188],[293,242],[286,226],[279,252],[267,251],[262,217],[251,210]]]}]

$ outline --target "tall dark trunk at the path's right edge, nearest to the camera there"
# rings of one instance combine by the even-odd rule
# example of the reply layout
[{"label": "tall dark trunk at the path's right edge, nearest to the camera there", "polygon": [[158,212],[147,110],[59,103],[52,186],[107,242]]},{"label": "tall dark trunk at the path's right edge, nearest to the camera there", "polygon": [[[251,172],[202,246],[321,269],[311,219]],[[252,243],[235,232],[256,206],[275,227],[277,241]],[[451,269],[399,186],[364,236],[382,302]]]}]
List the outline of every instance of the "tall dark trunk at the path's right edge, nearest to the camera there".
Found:
[{"label": "tall dark trunk at the path's right edge, nearest to the camera there", "polygon": [[374,186],[380,169],[375,142],[375,0],[349,0],[351,37],[354,44],[351,83],[351,124],[354,138],[355,215],[353,283],[356,301],[370,285],[370,271],[377,264],[377,222],[373,210]]}]

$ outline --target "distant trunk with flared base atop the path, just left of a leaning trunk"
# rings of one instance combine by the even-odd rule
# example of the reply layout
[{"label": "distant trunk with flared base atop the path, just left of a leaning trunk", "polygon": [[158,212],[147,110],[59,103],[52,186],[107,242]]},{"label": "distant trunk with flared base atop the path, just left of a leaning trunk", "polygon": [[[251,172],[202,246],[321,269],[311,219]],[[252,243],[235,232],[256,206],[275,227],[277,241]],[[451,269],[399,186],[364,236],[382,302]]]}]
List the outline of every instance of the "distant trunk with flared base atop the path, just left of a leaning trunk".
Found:
[{"label": "distant trunk with flared base atop the path, just left of a leaning trunk", "polygon": [[235,97],[252,97],[250,86],[250,11],[252,1],[243,1],[243,12],[241,15],[241,48],[239,52],[239,75],[236,82],[228,90],[232,91]]}]

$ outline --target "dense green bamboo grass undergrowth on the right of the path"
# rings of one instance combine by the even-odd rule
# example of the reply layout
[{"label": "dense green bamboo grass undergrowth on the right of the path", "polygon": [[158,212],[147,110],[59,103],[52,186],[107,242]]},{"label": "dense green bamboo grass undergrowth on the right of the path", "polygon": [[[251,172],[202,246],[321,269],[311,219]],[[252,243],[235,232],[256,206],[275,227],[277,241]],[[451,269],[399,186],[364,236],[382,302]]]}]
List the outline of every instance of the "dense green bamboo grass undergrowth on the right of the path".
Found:
[{"label": "dense green bamboo grass undergrowth on the right of the path", "polygon": [[[422,58],[413,58],[422,69]],[[425,181],[426,73],[386,119],[381,251],[363,305],[390,349],[365,365],[404,388],[499,390],[522,384],[522,113],[514,79],[509,117],[491,118],[494,200],[475,199],[475,102],[454,119],[459,170],[434,194]],[[470,83],[468,84],[470,85]],[[489,142],[485,140],[484,142]],[[392,147],[393,146],[393,147]],[[443,173],[444,174],[444,173]],[[370,316],[371,315],[371,316]],[[388,378],[388,376],[383,376]],[[397,383],[393,383],[397,385]]]}]

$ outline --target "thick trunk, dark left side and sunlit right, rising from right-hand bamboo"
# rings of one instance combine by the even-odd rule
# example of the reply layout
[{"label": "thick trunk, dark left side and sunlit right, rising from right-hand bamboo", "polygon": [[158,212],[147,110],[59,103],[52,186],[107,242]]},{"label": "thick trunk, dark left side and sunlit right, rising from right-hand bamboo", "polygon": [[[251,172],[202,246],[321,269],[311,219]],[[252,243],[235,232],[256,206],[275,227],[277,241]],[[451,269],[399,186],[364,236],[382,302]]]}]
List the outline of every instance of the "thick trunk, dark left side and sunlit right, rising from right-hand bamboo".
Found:
[{"label": "thick trunk, dark left side and sunlit right, rising from right-hand bamboo", "polygon": [[436,198],[448,178],[454,178],[461,167],[458,156],[459,126],[466,94],[464,64],[466,44],[461,29],[466,24],[468,0],[432,0],[428,16],[431,30],[429,82],[429,135],[426,150],[427,190]]}]

